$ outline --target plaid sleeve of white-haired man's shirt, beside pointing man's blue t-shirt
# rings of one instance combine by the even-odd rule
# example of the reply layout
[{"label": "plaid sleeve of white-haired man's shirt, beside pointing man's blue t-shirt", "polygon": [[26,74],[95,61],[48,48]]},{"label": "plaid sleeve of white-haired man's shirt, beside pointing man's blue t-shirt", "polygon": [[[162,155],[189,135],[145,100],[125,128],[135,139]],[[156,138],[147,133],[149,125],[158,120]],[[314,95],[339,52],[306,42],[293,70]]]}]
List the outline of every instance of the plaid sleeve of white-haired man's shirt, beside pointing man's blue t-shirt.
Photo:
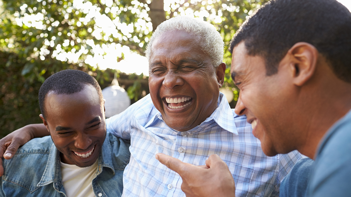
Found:
[{"label": "plaid sleeve of white-haired man's shirt, beside pointing man's blue t-shirt", "polygon": [[287,154],[278,154],[278,171],[277,171],[277,179],[274,184],[274,191],[272,196],[279,196],[279,188],[280,183],[282,183],[284,177],[290,172],[293,166],[302,158],[306,158],[306,156],[301,155],[297,150],[291,151]]}]

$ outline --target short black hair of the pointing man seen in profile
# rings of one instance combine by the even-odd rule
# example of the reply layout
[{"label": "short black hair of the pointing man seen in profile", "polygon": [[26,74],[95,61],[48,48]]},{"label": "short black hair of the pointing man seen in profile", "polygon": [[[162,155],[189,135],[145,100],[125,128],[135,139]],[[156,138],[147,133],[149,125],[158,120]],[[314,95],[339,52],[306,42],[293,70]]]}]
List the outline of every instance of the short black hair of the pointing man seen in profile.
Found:
[{"label": "short black hair of the pointing man seen in profile", "polygon": [[230,52],[241,41],[249,55],[266,60],[266,74],[297,42],[317,48],[339,79],[351,83],[351,13],[336,0],[271,0],[239,28]]}]

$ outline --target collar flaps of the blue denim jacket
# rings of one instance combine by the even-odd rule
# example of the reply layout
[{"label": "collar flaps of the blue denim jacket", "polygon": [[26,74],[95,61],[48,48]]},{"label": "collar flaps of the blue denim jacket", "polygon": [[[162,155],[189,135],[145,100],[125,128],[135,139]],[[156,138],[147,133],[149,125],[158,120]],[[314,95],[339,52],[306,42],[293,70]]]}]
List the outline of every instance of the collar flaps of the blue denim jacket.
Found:
[{"label": "collar flaps of the blue denim jacket", "polygon": [[[100,154],[99,161],[98,161],[98,172],[97,174],[99,175],[102,172],[102,167],[107,167],[110,168],[113,171],[113,174],[115,174],[114,168],[113,168],[113,163],[112,163],[112,148],[110,144],[110,140],[106,135],[105,141],[102,144],[102,157]],[[50,183],[53,183],[54,181],[61,181],[61,169],[60,169],[60,152],[57,150],[56,146],[54,143],[51,144],[50,152],[49,152],[49,158],[46,163],[46,167],[44,170],[44,173],[37,184],[37,186],[44,186]]]}]

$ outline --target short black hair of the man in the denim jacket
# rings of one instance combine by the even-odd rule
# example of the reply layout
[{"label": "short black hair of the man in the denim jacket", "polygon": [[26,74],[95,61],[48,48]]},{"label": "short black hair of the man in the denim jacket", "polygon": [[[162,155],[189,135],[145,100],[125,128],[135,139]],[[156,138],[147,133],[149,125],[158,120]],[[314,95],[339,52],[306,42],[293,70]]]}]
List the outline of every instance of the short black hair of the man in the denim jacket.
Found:
[{"label": "short black hair of the man in the denim jacket", "polygon": [[55,94],[73,94],[84,89],[86,84],[92,84],[99,94],[100,102],[103,101],[101,87],[94,77],[80,70],[61,70],[49,76],[39,89],[39,106],[41,114],[46,118],[45,97],[49,91]]}]

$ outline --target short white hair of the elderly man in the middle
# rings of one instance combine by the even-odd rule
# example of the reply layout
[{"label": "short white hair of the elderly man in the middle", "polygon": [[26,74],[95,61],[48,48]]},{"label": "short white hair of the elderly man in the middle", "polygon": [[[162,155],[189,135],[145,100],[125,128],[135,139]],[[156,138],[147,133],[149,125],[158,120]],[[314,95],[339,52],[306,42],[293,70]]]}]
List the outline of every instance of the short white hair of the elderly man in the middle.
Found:
[{"label": "short white hair of the elderly man in the middle", "polygon": [[154,31],[146,47],[146,58],[150,61],[152,43],[160,35],[182,30],[199,38],[201,50],[210,56],[212,65],[217,68],[223,61],[224,42],[216,27],[201,19],[190,18],[188,16],[177,16],[162,22]]}]

